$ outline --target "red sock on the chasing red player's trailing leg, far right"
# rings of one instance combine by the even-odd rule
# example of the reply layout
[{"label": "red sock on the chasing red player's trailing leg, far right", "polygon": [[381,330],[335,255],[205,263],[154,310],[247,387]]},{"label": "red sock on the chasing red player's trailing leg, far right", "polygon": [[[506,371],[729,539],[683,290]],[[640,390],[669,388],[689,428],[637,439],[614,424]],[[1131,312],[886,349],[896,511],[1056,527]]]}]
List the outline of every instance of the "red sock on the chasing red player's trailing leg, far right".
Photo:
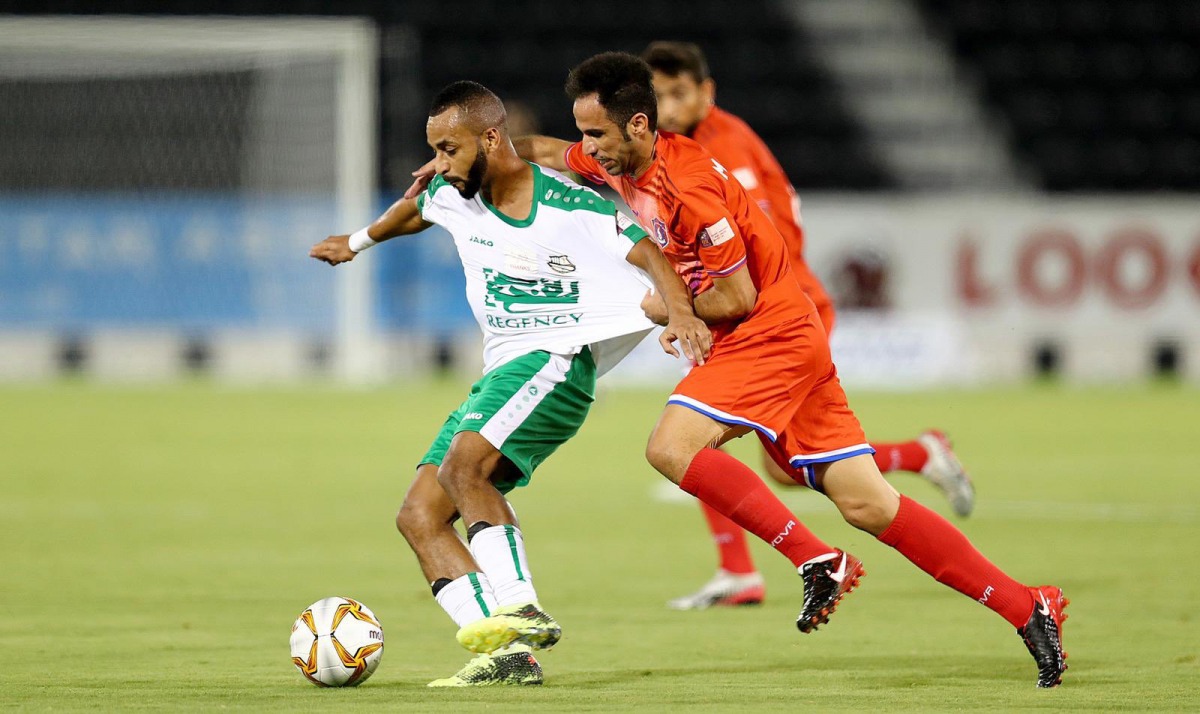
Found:
[{"label": "red sock on the chasing red player's trailing leg, far right", "polygon": [[878,538],[937,582],[978,600],[1014,628],[1028,622],[1033,612],[1030,589],[992,565],[946,518],[907,496],[900,497],[900,511]]}]

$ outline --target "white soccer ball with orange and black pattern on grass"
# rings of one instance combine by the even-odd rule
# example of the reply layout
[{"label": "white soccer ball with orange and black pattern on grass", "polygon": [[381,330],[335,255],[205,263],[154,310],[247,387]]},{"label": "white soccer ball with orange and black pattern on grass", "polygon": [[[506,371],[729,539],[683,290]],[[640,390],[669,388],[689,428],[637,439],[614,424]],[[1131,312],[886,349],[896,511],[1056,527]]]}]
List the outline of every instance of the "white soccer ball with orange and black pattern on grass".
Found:
[{"label": "white soccer ball with orange and black pattern on grass", "polygon": [[362,684],[380,659],[383,626],[358,600],[318,600],[292,625],[292,662],[317,686]]}]

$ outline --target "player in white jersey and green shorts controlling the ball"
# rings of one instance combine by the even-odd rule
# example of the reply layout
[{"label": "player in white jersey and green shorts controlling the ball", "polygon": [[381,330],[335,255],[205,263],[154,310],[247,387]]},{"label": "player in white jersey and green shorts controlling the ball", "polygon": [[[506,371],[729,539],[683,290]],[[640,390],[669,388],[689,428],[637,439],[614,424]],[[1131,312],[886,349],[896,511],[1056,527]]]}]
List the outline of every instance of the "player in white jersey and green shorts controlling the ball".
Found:
[{"label": "player in white jersey and green shorts controlling the ball", "polygon": [[[532,649],[560,628],[538,602],[516,515],[504,498],[572,437],[595,379],[654,326],[641,302],[668,306],[662,348],[703,364],[712,335],[647,234],[590,188],[522,161],[504,104],[473,82],[434,98],[426,138],[437,175],[371,226],[331,235],[310,254],[330,265],[432,224],[455,239],[467,296],[484,331],[485,370],[421,458],[396,526],[458,642],[479,653],[431,686],[540,684]],[[467,541],[454,528],[462,518]]]}]

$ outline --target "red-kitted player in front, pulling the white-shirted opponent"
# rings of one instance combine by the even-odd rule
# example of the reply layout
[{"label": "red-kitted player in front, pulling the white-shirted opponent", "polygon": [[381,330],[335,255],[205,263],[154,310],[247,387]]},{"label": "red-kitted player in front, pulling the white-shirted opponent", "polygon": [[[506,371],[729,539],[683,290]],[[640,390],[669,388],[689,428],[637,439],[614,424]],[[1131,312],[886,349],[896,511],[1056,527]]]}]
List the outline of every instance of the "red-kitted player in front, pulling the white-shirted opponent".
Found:
[{"label": "red-kitted player in front, pulling the white-shirted opponent", "polygon": [[[518,154],[616,188],[713,331],[709,360],[679,383],[650,434],[650,464],[798,566],[805,592],[797,626],[811,631],[828,622],[862,564],[821,542],[750,468],[714,448],[752,428],[781,468],[824,493],[848,523],[1013,624],[1038,666],[1038,686],[1058,685],[1067,668],[1062,590],[1016,582],[883,479],[782,238],[700,144],[656,131],[649,66],[600,54],[571,71],[566,91],[583,139],[530,137],[515,142]],[[644,306],[658,314],[653,299]]]}]

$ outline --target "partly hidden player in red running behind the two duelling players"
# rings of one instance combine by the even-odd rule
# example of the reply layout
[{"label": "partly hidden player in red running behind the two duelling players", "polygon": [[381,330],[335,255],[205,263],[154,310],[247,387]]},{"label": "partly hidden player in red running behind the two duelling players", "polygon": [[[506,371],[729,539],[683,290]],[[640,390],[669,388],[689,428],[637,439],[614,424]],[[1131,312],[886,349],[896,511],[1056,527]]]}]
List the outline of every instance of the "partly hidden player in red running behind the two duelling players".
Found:
[{"label": "partly hidden player in red running behind the two duelling players", "polygon": [[[715,104],[716,85],[698,46],[654,42],[642,53],[642,59],[654,72],[659,126],[685,134],[708,149],[767,214],[787,244],[792,274],[816,304],[826,332],[832,334],[833,300],[804,259],[800,202],[779,161],[746,122]],[[946,494],[955,514],[971,514],[974,487],[942,432],[926,431],[900,443],[871,442],[871,446],[880,472],[919,473]],[[763,468],[775,481],[797,485],[769,456],[763,458]],[[668,605],[677,610],[698,610],[761,602],[766,587],[750,556],[745,533],[703,503],[701,510],[716,545],[716,574],[697,592],[671,600]]]}]

